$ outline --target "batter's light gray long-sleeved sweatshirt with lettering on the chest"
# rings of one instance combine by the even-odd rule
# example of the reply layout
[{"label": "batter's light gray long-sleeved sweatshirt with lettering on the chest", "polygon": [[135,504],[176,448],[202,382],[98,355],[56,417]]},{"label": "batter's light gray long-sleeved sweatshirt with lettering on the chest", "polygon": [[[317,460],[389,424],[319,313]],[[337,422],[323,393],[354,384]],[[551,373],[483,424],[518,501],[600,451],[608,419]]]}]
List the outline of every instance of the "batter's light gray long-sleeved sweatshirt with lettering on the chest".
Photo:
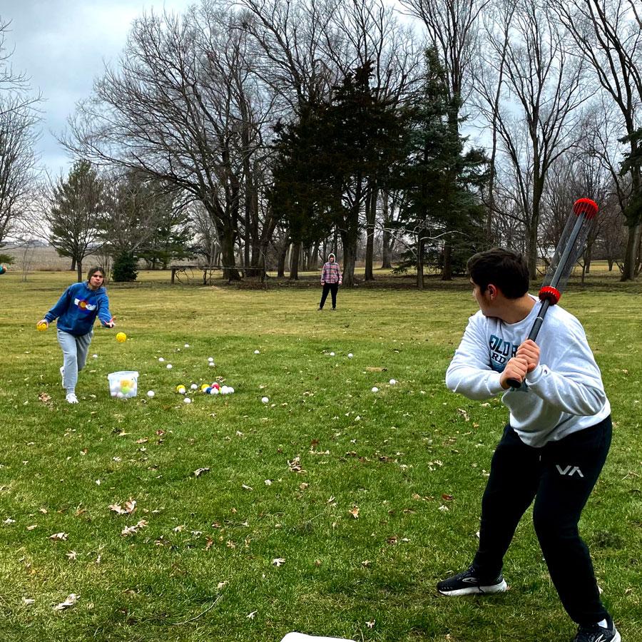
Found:
[{"label": "batter's light gray long-sleeved sweatshirt with lettering on the chest", "polygon": [[499,375],[528,337],[539,307],[536,302],[517,323],[477,312],[470,317],[446,372],[447,387],[469,399],[504,392],[501,401],[510,411],[511,426],[525,444],[534,447],[591,427],[611,414],[584,328],[559,305],[549,307],[539,331],[539,365],[519,389],[501,387]]}]

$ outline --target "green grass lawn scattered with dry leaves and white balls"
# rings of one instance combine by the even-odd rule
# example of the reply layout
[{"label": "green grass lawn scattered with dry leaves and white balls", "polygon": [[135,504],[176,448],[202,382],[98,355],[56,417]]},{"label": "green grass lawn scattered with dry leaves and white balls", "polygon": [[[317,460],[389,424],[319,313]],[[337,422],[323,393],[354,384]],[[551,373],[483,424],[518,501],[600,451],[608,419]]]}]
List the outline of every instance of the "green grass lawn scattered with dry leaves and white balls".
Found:
[{"label": "green grass lawn scattered with dry leaves and white balls", "polygon": [[[449,599],[434,588],[474,554],[507,416],[499,399],[444,386],[476,310],[464,280],[342,290],[337,312],[317,312],[312,282],[266,292],[140,278],[109,288],[128,340],[96,329],[71,406],[55,329],[35,323],[73,275],[0,277],[2,638],[572,638],[528,515],[506,557],[510,591]],[[639,642],[642,284],[599,279],[562,301],[586,327],[615,422],[581,531],[623,641]],[[109,397],[116,370],[140,372],[136,399]],[[185,404],[175,392],[217,377],[235,394]],[[128,499],[133,513],[110,509]],[[76,604],[54,611],[70,593]]]}]

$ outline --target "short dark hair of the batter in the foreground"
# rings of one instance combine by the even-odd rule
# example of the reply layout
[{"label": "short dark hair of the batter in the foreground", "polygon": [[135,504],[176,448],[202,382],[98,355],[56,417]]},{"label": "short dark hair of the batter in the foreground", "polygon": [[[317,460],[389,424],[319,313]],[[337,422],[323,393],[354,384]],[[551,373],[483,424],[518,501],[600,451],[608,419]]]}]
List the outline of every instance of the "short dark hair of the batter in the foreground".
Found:
[{"label": "short dark hair of the batter in the foreground", "polygon": [[529,267],[524,257],[512,250],[493,248],[469,258],[468,273],[481,292],[489,283],[499,287],[507,299],[519,299],[529,291]]}]

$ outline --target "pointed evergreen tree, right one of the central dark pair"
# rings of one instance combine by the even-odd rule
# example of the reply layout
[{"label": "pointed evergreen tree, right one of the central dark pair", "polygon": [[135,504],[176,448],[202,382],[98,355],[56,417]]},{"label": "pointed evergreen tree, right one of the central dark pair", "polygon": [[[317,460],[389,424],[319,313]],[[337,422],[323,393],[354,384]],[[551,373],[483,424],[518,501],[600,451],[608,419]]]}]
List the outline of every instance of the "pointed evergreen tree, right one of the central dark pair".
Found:
[{"label": "pointed evergreen tree, right one of the central dark pair", "polygon": [[[478,189],[486,180],[486,157],[479,149],[464,151],[467,139],[452,127],[459,113],[457,100],[449,97],[437,52],[428,49],[422,87],[402,115],[406,156],[390,178],[392,187],[404,192],[400,220],[415,237],[401,267],[417,267],[419,288],[427,260],[444,267],[447,243],[427,248],[429,238],[449,236],[455,248],[453,264],[462,269],[482,232]],[[444,272],[449,278],[449,269]]]}]

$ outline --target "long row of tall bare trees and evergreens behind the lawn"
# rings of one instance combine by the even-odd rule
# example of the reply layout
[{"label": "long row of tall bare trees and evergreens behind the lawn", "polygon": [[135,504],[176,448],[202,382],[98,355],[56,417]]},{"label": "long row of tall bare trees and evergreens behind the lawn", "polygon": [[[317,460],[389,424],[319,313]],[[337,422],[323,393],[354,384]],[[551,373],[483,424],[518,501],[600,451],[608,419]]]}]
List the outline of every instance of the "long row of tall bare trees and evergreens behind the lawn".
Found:
[{"label": "long row of tall bare trees and evergreens behind the lawn", "polygon": [[636,3],[399,5],[203,0],[137,19],[61,140],[81,160],[50,185],[52,239],[70,237],[54,205],[83,171],[106,185],[87,247],[112,257],[198,253],[237,279],[240,266],[283,273],[289,256],[296,278],[301,259],[339,250],[349,285],[358,252],[367,280],[394,252],[421,287],[425,264],[449,279],[497,244],[535,277],[585,196],[601,206],[585,270],[605,258],[635,278]]}]

